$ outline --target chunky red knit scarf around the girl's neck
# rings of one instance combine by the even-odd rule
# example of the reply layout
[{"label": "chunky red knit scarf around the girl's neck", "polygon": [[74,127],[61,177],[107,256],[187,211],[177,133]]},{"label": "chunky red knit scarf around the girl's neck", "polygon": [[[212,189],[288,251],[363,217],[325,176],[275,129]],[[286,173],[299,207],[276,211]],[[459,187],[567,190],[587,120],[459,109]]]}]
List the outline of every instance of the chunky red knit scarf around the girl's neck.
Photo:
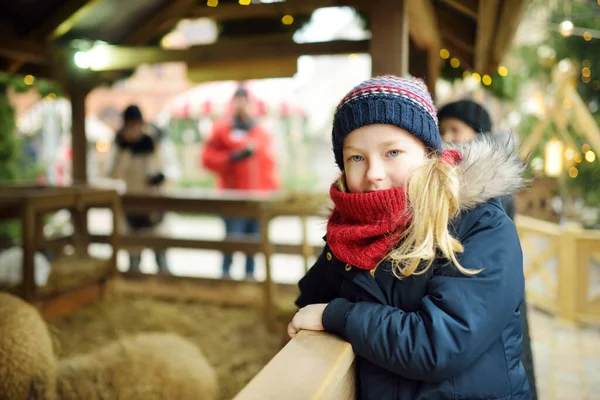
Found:
[{"label": "chunky red knit scarf around the girl's neck", "polygon": [[394,247],[410,222],[406,188],[329,195],[335,208],[327,222],[327,244],[335,256],[352,266],[371,270]]}]

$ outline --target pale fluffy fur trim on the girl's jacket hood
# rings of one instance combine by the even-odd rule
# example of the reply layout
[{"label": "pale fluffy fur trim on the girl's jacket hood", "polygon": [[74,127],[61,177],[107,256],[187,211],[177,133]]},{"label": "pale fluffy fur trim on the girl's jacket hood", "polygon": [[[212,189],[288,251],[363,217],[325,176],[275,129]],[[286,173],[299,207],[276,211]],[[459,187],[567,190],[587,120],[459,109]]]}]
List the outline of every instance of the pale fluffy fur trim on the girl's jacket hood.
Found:
[{"label": "pale fluffy fur trim on the girl's jacket hood", "polygon": [[470,210],[486,201],[512,195],[525,184],[525,164],[516,152],[516,140],[503,133],[479,135],[468,143],[446,145],[463,155],[458,164],[460,209]]}]

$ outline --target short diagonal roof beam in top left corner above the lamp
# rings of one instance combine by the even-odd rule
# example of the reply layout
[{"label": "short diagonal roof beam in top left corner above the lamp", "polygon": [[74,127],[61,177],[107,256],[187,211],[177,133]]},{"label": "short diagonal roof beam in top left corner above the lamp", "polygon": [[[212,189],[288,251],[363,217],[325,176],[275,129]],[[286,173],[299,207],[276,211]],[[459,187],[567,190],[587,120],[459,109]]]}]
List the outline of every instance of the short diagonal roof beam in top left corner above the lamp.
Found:
[{"label": "short diagonal roof beam in top left corner above the lamp", "polygon": [[40,40],[56,40],[67,34],[100,0],[68,0],[61,8],[33,30],[29,36]]}]

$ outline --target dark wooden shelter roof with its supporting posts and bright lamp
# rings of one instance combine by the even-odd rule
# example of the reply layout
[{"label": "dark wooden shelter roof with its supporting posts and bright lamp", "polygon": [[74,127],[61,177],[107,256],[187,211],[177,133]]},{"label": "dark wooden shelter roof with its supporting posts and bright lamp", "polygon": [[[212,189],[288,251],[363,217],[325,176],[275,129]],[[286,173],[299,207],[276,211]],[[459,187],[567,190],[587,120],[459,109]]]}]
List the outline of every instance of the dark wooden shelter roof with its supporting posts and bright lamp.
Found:
[{"label": "dark wooden shelter roof with its supporting posts and bright lamp", "polygon": [[[247,5],[244,5],[247,4]],[[58,81],[71,98],[73,182],[87,183],[85,97],[140,64],[186,62],[207,80],[290,76],[302,55],[369,53],[372,74],[424,78],[433,88],[441,49],[467,68],[490,73],[507,52],[526,0],[19,0],[0,3],[0,72]],[[368,40],[295,43],[316,9],[350,6]],[[291,15],[298,21],[283,24]],[[163,49],[182,19],[208,17],[222,28],[213,44]],[[99,63],[75,67],[77,51]],[[85,48],[88,46],[87,48]],[[86,53],[88,52],[88,53]],[[198,73],[202,68],[208,73]],[[211,75],[211,71],[216,71]],[[242,74],[240,75],[240,71]],[[253,71],[259,76],[244,76]],[[287,71],[287,72],[285,72]],[[219,79],[213,79],[217,76]]]}]

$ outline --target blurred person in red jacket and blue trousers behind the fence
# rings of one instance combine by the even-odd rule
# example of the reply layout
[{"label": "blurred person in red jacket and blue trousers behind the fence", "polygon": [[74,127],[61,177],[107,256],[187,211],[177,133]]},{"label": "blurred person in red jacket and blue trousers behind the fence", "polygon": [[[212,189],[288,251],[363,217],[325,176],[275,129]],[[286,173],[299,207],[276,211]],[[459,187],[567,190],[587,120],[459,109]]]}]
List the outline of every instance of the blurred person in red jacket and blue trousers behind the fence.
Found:
[{"label": "blurred person in red jacket and blue trousers behind the fence", "polygon": [[[204,168],[217,175],[220,189],[272,191],[279,188],[271,138],[250,113],[248,91],[239,87],[232,99],[233,115],[215,121],[202,153]],[[227,237],[256,235],[254,218],[226,217]],[[223,277],[229,278],[233,254],[223,254]],[[246,278],[254,279],[254,256],[246,255]]]}]

